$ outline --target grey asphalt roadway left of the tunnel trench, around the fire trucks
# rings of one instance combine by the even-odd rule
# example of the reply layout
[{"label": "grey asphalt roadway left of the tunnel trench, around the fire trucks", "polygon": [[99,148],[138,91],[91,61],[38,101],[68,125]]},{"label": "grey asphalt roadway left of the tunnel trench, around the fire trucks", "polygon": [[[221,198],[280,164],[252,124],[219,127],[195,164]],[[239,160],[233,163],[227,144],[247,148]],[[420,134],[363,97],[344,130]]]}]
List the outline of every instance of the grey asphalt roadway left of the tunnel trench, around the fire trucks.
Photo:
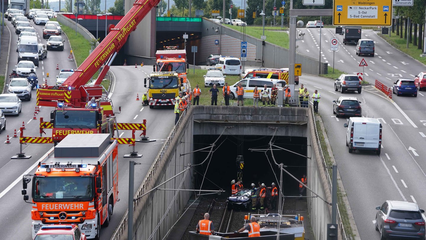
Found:
[{"label": "grey asphalt roadway left of the tunnel trench, around the fire trucks", "polygon": [[[32,22],[31,22],[32,23]],[[14,42],[17,41],[17,35],[14,34],[12,24],[7,22],[12,32],[12,45],[11,53],[9,58],[8,72],[12,72],[15,65],[15,59],[17,59],[17,53],[15,51],[16,46]],[[42,38],[42,27],[36,26],[37,32],[41,36],[40,41],[43,42]],[[46,73],[50,74],[48,78],[48,84],[52,85],[56,81],[56,74],[59,70],[56,70],[56,64],[59,64],[59,68],[75,68],[73,61],[67,61],[69,56],[69,45],[67,44],[67,38],[63,34],[64,40],[66,41],[65,50],[60,51],[49,51],[47,59],[40,62],[40,67],[37,68],[37,76],[41,79],[42,75],[46,76]],[[111,67],[111,71],[116,77],[116,82],[112,85],[110,93],[112,93],[111,99],[117,111],[117,106],[121,105],[121,114],[117,114],[117,120],[119,123],[142,123],[143,119],[147,120],[147,136],[151,139],[158,139],[151,143],[137,143],[135,150],[143,154],[142,158],[135,158],[136,162],[142,163],[141,165],[135,166],[136,176],[135,178],[135,190],[140,186],[146,173],[148,172],[154,158],[158,154],[164,140],[167,138],[170,129],[174,126],[174,113],[173,108],[155,108],[149,109],[142,107],[141,101],[135,101],[136,94],[145,92],[146,89],[143,87],[143,79],[147,73],[150,73],[150,66],[138,67],[135,69],[134,66],[121,66]],[[39,80],[40,81],[40,80]],[[40,81],[41,82],[41,81]],[[42,107],[41,111],[37,114],[37,120],[32,120],[34,109],[35,109],[35,94],[36,91],[32,91],[32,101],[23,101],[22,113],[19,117],[6,116],[6,131],[2,132],[0,138],[6,141],[6,135],[9,137],[13,136],[14,129],[19,129],[22,126],[22,122],[25,123],[26,130],[24,130],[25,136],[38,136],[39,117],[44,117],[45,120],[50,119],[50,111],[53,108]],[[155,128],[155,126],[161,126]],[[123,132],[123,131],[121,131]],[[52,134],[52,131],[46,131],[47,136]],[[137,132],[139,135],[141,132]],[[19,133],[18,133],[19,135]],[[120,134],[121,137],[131,137],[131,132],[123,132]],[[23,152],[26,155],[32,155],[30,159],[11,160],[10,157],[19,152],[19,139],[11,138],[11,144],[0,144],[0,152],[2,158],[0,160],[0,170],[2,171],[2,179],[0,181],[0,204],[3,206],[3,216],[0,219],[2,225],[2,231],[0,231],[0,239],[31,239],[31,205],[25,203],[22,199],[22,175],[32,174],[36,170],[38,160],[53,147],[52,144],[28,144],[23,145]],[[132,151],[132,147],[127,145],[119,146],[119,156],[128,154]],[[118,225],[121,217],[127,210],[127,195],[128,195],[128,161],[130,158],[119,158],[119,198],[121,199],[114,207],[114,214],[108,228],[101,229],[101,236],[105,238],[110,237],[112,232]],[[30,191],[30,189],[28,189]]]}]

